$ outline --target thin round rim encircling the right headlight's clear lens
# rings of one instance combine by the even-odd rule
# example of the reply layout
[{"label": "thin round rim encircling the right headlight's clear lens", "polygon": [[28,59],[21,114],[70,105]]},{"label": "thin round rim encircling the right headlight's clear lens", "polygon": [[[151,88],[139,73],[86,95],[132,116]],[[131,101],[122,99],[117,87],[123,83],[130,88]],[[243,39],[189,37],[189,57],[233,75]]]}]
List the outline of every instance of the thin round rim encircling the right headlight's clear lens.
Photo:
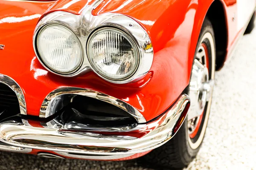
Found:
[{"label": "thin round rim encircling the right headlight's clear lens", "polygon": [[[89,51],[89,46],[90,46],[90,42],[91,40],[93,40],[93,38],[95,37],[96,34],[99,34],[101,32],[105,32],[105,31],[111,31],[111,32],[116,32],[120,35],[122,35],[126,40],[128,40],[128,42],[131,44],[132,47],[134,47],[134,55],[136,54],[137,56],[137,61],[136,61],[136,64],[135,64],[135,68],[131,71],[130,74],[128,74],[126,77],[123,77],[123,78],[117,78],[117,79],[113,79],[111,77],[108,77],[104,74],[102,74],[102,72],[99,70],[99,68],[97,68],[93,62],[91,61],[91,57],[90,57],[90,51]],[[139,65],[140,65],[140,51],[137,47],[137,44],[135,42],[135,40],[133,39],[133,37],[128,34],[127,32],[123,31],[122,29],[120,28],[117,28],[117,27],[111,27],[111,26],[103,26],[103,27],[99,27],[99,28],[96,28],[95,30],[92,31],[92,33],[89,35],[89,38],[87,40],[87,44],[86,44],[86,50],[87,50],[87,58],[92,66],[92,69],[96,72],[96,74],[98,74],[100,77],[102,77],[102,79],[105,79],[107,81],[109,80],[112,80],[112,81],[122,81],[122,80],[125,80],[125,79],[129,79],[130,77],[132,77],[137,69],[139,68]]]}]

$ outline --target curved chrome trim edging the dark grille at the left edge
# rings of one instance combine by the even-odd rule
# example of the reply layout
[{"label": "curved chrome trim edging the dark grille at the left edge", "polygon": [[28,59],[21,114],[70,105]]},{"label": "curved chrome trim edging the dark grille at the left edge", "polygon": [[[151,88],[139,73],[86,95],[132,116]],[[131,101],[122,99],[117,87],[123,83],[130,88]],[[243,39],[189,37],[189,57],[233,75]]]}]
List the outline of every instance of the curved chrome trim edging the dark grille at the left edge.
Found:
[{"label": "curved chrome trim edging the dark grille at the left edge", "polygon": [[20,88],[20,86],[17,84],[17,82],[15,82],[14,79],[12,79],[9,76],[6,76],[4,74],[0,74],[0,82],[8,85],[9,88],[12,89],[12,91],[15,92],[18,101],[19,101],[19,105],[20,105],[20,114],[26,115],[26,101],[25,101],[25,97],[23,94],[22,89]]}]

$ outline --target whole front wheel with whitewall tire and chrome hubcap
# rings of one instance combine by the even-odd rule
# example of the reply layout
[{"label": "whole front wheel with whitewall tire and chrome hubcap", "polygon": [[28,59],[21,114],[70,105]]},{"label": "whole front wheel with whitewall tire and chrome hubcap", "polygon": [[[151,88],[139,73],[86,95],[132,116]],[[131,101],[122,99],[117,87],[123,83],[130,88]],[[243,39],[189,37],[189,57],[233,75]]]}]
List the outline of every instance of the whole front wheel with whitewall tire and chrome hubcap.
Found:
[{"label": "whole front wheel with whitewall tire and chrome hubcap", "polygon": [[195,51],[190,83],[185,90],[191,100],[188,116],[177,134],[166,144],[143,156],[157,167],[183,168],[197,155],[207,127],[215,74],[215,39],[206,18]]}]

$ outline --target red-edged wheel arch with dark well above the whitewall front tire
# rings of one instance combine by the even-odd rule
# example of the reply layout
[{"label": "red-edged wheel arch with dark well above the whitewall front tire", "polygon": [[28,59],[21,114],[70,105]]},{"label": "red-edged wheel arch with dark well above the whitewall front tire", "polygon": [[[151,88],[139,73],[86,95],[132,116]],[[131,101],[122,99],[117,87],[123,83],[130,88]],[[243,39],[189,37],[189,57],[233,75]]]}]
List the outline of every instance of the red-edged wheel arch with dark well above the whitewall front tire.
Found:
[{"label": "red-edged wheel arch with dark well above the whitewall front tire", "polygon": [[[205,4],[207,2],[208,4]],[[224,65],[227,56],[228,46],[228,24],[227,24],[227,6],[224,0],[210,0],[204,1],[199,0],[198,10],[195,15],[195,23],[193,28],[193,34],[191,40],[192,43],[189,53],[189,63],[192,63],[194,59],[196,43],[201,31],[201,27],[206,17],[210,20],[213,26],[214,37],[215,37],[215,48],[216,48],[216,70],[220,70]],[[200,4],[203,4],[200,6]],[[192,69],[192,66],[189,68]],[[190,75],[190,74],[189,74]]]}]

